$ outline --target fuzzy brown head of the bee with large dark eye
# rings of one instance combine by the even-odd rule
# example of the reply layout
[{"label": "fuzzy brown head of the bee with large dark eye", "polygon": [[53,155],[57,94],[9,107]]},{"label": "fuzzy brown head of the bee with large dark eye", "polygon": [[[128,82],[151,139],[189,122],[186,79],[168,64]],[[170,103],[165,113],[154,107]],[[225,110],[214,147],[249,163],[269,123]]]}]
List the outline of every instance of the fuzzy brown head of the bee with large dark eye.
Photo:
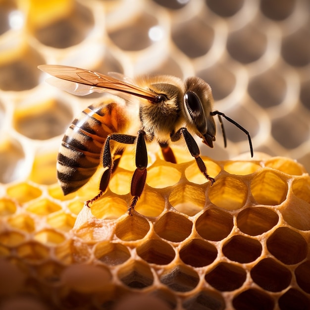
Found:
[{"label": "fuzzy brown head of the bee with large dark eye", "polygon": [[185,81],[183,104],[188,127],[203,139],[203,143],[213,148],[216,127],[210,115],[213,108],[210,86],[198,77],[188,78]]}]

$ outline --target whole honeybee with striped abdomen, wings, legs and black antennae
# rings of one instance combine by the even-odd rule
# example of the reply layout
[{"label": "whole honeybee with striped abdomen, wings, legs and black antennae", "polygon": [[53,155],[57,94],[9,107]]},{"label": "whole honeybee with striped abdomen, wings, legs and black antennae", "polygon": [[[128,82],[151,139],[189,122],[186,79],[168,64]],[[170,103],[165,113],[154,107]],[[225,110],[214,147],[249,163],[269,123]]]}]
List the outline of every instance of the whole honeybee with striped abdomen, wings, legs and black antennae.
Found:
[{"label": "whole honeybee with striped abdomen, wings, legs and black antennae", "polygon": [[132,200],[128,208],[130,215],[145,187],[148,165],[146,145],[152,141],[159,144],[166,161],[176,163],[170,145],[184,139],[199,170],[212,185],[215,180],[207,173],[193,135],[213,148],[215,115],[221,125],[224,146],[226,135],[221,116],[248,136],[253,157],[249,132],[224,113],[213,111],[211,88],[199,77],[189,77],[183,82],[169,75],[144,75],[131,82],[117,73],[103,75],[62,65],[40,65],[39,69],[53,76],[51,84],[75,95],[92,92],[116,94],[103,103],[88,106],[73,120],[58,153],[57,178],[64,195],[85,185],[99,165],[105,168],[99,193],[86,202],[88,207],[106,191],[124,148],[130,144],[136,148],[136,169],[130,189]]}]

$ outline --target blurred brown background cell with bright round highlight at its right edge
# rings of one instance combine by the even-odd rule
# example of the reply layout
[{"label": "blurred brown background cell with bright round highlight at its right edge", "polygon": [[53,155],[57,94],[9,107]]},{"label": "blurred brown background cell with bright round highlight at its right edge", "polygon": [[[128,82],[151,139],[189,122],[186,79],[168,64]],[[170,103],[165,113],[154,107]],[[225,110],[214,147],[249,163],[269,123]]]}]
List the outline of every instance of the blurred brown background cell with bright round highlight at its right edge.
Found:
[{"label": "blurred brown background cell with bright round highlight at its right edge", "polygon": [[157,25],[157,19],[144,12],[132,20],[130,24],[116,30],[108,31],[108,36],[121,50],[141,51],[152,45],[149,31]]}]

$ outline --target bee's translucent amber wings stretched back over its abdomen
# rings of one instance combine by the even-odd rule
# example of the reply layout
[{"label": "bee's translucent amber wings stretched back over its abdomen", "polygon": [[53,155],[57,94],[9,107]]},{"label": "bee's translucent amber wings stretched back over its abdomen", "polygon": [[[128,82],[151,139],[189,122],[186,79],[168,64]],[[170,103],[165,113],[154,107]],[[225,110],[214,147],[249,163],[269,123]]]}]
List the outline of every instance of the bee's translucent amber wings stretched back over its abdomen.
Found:
[{"label": "bee's translucent amber wings stretched back over its abdomen", "polygon": [[52,79],[49,83],[71,94],[84,96],[93,92],[102,93],[112,90],[145,98],[150,102],[157,102],[157,95],[155,93],[112,76],[62,65],[44,64],[38,66],[38,68],[55,78],[61,79],[62,82],[55,82]]}]

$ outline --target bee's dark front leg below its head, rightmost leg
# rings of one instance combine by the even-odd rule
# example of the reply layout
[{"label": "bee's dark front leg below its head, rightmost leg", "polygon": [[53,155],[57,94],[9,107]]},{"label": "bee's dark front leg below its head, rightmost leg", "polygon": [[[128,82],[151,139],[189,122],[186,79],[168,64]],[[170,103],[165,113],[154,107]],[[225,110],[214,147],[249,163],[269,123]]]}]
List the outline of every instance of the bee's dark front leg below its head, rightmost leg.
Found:
[{"label": "bee's dark front leg below its head, rightmost leg", "polygon": [[185,127],[180,128],[177,132],[170,135],[171,141],[175,142],[180,140],[181,135],[183,135],[187,148],[190,151],[191,155],[196,159],[199,170],[206,177],[206,179],[211,182],[211,185],[213,185],[215,180],[208,175],[207,167],[202,158],[200,157],[200,150],[198,144],[196,143],[193,136],[188,132],[188,130]]}]

